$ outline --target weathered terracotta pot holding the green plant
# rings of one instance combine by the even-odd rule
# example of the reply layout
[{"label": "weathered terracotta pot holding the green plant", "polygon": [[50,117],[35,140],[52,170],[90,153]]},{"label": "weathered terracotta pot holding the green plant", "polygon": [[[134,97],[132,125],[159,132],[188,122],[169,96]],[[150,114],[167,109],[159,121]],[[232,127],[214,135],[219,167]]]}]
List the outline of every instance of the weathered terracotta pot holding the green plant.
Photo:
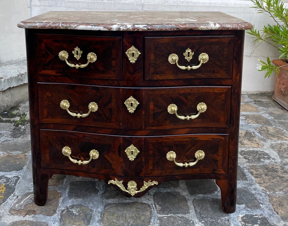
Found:
[{"label": "weathered terracotta pot holding the green plant", "polygon": [[272,62],[277,67],[286,65],[279,68],[279,73],[275,78],[273,99],[288,110],[288,64],[280,59],[272,60]]}]

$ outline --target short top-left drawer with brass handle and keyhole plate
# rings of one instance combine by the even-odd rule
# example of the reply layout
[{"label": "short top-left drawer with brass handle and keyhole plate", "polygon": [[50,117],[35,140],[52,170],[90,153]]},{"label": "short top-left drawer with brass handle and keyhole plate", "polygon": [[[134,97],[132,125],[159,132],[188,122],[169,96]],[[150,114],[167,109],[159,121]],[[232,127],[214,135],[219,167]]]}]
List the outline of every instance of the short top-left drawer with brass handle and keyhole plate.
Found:
[{"label": "short top-left drawer with brass handle and keyhole plate", "polygon": [[[37,34],[36,45],[38,76],[121,80],[121,37]],[[70,67],[65,60],[60,59],[60,52],[63,54],[62,59],[67,57],[68,64],[78,64],[80,67]],[[90,52],[96,54],[97,59],[88,55]],[[92,56],[89,64],[81,68],[88,63],[88,56]]]}]

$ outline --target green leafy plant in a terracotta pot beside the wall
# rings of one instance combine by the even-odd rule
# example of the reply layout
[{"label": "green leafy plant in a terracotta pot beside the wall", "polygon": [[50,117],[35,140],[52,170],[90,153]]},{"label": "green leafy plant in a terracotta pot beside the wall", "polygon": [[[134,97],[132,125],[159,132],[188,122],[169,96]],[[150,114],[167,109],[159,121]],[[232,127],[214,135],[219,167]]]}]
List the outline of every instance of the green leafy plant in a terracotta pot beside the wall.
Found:
[{"label": "green leafy plant in a terracotta pot beside the wall", "polygon": [[254,4],[252,8],[257,8],[258,13],[268,13],[273,24],[264,25],[262,30],[253,26],[247,33],[253,36],[253,42],[260,42],[259,45],[266,42],[280,52],[279,59],[271,61],[267,57],[267,62],[258,59],[257,69],[266,71],[265,78],[272,72],[276,73],[273,99],[288,110],[288,9],[280,0],[251,1]]}]

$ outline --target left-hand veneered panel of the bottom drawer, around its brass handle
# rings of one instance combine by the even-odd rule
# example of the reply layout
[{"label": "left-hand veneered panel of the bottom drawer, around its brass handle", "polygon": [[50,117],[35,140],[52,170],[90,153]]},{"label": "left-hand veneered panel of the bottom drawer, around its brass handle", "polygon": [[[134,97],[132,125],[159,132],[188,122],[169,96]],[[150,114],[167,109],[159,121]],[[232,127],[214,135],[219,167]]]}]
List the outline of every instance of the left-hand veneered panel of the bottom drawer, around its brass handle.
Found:
[{"label": "left-hand veneered panel of the bottom drawer, around its brass handle", "polygon": [[[93,149],[99,152],[99,157],[86,165],[78,165],[62,154],[62,148],[65,146],[71,148],[72,159],[89,160],[89,152]],[[119,146],[120,137],[116,136],[40,130],[41,168],[119,175],[120,167],[116,153]]]}]

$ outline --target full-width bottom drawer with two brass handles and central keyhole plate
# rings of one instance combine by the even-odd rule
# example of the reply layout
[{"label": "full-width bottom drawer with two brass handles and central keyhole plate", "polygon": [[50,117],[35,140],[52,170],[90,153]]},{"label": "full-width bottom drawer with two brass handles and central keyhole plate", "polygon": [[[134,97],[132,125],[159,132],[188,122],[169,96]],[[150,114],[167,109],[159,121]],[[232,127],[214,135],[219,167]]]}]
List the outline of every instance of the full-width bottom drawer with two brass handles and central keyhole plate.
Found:
[{"label": "full-width bottom drawer with two brass handles and central keyhole plate", "polygon": [[134,177],[227,174],[228,169],[227,134],[125,137],[55,130],[39,134],[43,169]]}]

